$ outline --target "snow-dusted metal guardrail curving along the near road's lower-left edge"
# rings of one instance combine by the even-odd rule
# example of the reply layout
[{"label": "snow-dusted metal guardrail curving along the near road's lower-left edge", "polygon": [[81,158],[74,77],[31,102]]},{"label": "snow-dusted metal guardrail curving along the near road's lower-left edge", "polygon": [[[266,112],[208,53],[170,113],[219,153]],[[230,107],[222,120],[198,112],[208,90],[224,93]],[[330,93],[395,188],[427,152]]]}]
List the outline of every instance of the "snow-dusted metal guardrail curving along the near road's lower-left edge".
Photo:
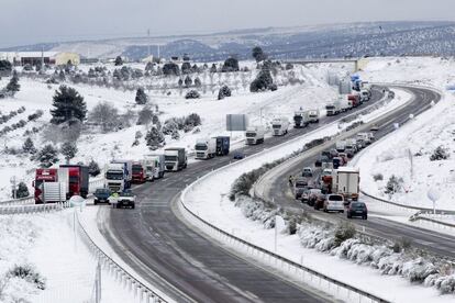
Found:
[{"label": "snow-dusted metal guardrail curving along the near road's lower-left edge", "polygon": [[[77,217],[77,231],[79,232],[82,240],[89,248],[89,250],[98,259],[98,262],[101,267],[110,272],[115,281],[118,281],[123,287],[126,287],[130,291],[133,291],[134,298],[138,298],[140,302],[146,303],[160,303],[169,302],[164,299],[156,291],[152,290],[136,278],[134,278],[130,272],[123,269],[118,262],[115,262],[111,257],[109,257],[90,237],[87,231],[84,228],[84,225],[80,223],[79,215]],[[136,302],[136,301],[134,301]]]}]

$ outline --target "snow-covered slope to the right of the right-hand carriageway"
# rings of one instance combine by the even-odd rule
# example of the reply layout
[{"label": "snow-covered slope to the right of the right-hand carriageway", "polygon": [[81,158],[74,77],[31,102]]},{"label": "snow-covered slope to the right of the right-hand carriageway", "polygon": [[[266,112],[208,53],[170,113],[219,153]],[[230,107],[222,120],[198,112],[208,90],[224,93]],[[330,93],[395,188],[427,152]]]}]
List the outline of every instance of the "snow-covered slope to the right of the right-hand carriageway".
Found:
[{"label": "snow-covered slope to the right of the right-hand carriageway", "polygon": [[[374,59],[360,74],[371,81],[412,82],[444,91],[455,81],[454,68],[453,59],[386,58]],[[455,210],[454,101],[454,94],[445,91],[443,100],[433,109],[362,153],[356,165],[360,167],[362,189],[406,205],[433,207],[428,198],[431,189],[440,195],[437,209]],[[439,146],[446,150],[448,158],[430,160]],[[374,176],[378,175],[384,178],[375,181]],[[389,195],[385,187],[392,175],[402,178],[403,184],[399,192]]]}]

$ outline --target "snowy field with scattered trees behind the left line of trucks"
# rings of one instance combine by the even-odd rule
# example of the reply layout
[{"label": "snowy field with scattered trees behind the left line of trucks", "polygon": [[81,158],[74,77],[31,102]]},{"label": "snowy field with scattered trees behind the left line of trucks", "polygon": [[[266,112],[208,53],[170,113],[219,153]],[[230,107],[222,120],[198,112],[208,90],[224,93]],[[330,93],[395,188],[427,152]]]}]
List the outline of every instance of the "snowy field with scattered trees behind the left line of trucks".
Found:
[{"label": "snowy field with scattered trees behind the left line of trucks", "polygon": [[[257,72],[254,65],[251,61],[241,63],[246,65],[253,70],[247,72],[247,81],[254,78]],[[142,65],[144,68],[145,65]],[[133,67],[140,67],[134,64]],[[112,66],[110,67],[113,68]],[[87,67],[81,67],[87,69]],[[202,93],[202,98],[198,100],[186,100],[185,89],[184,93],[180,93],[179,89],[167,89],[168,93],[162,93],[162,90],[148,91],[149,100],[153,104],[159,106],[159,111],[163,112],[159,116],[162,123],[169,117],[180,117],[190,113],[198,113],[202,119],[202,125],[199,127],[199,133],[180,133],[180,139],[171,139],[170,136],[166,136],[166,146],[181,146],[187,147],[189,152],[193,149],[193,145],[197,138],[208,137],[214,135],[231,135],[225,131],[225,115],[244,113],[248,115],[249,124],[263,124],[269,126],[270,121],[276,116],[288,116],[292,117],[293,111],[300,106],[306,109],[324,109],[325,104],[336,99],[336,88],[330,87],[326,81],[326,74],[329,70],[336,70],[339,72],[346,74],[347,70],[344,67],[331,66],[331,65],[314,65],[310,67],[296,66],[293,74],[295,78],[301,82],[299,85],[286,85],[288,70],[281,70],[276,77],[276,81],[281,83],[277,91],[268,91],[263,93],[251,93],[248,87],[243,88],[240,86],[240,78],[242,75],[236,72],[228,72],[226,75],[217,74],[215,85],[228,83],[233,89],[233,96],[222,101],[217,100],[218,90],[214,94],[211,91]],[[208,81],[208,77],[200,76],[203,80]],[[206,78],[206,79],[204,79]],[[163,82],[177,82],[177,77],[171,79],[157,78],[156,81]],[[141,80],[144,82],[145,80]],[[140,81],[140,82],[141,82]],[[149,80],[147,80],[149,81]],[[5,86],[8,79],[4,77],[0,81],[0,87]],[[203,82],[204,83],[204,82]],[[248,82],[249,83],[249,82]],[[30,122],[25,127],[3,135],[3,142],[0,142],[0,146],[10,149],[20,149],[24,139],[27,135],[24,134],[26,130],[31,131],[33,127],[40,130],[45,128],[48,125],[51,119],[49,110],[52,109],[52,98],[58,85],[47,85],[43,80],[31,79],[22,77],[20,79],[21,91],[16,93],[15,98],[9,98],[2,100],[0,104],[0,111],[5,114],[10,111],[18,110],[20,106],[25,106],[25,112],[13,117],[4,125],[11,125],[21,119],[26,120],[26,116],[34,113],[36,110],[44,111],[44,115],[36,122]],[[145,83],[144,83],[145,85]],[[115,90],[113,88],[97,87],[89,85],[73,85],[84,98],[87,103],[88,110],[92,109],[98,102],[107,101],[115,105],[120,113],[124,113],[127,110],[138,112],[142,106],[136,105],[134,102],[135,91],[129,90]],[[262,116],[260,116],[262,114]],[[148,131],[146,126],[134,125],[123,128],[118,132],[111,132],[107,134],[93,133],[91,131],[82,131],[80,138],[77,141],[78,153],[73,159],[74,162],[82,161],[89,162],[95,159],[99,162],[100,167],[103,167],[110,159],[118,158],[130,158],[141,159],[144,154],[149,153],[145,145],[145,135]],[[1,127],[0,127],[1,128]],[[47,144],[43,137],[43,132],[40,131],[37,134],[30,135],[33,139],[35,147],[40,148]],[[135,141],[136,132],[141,132],[143,137],[140,138],[137,146],[132,146]],[[238,142],[243,138],[243,133],[233,133],[232,141]],[[57,146],[58,147],[58,143]],[[234,144],[235,146],[235,144]],[[97,150],[93,153],[93,150]],[[15,176],[18,181],[25,181],[31,187],[33,179],[34,168],[37,166],[36,162],[31,161],[29,156],[25,155],[9,155],[3,153],[0,155],[1,165],[0,173],[4,176],[0,180],[0,199],[8,199],[11,194],[10,178]],[[60,162],[64,159],[60,156]],[[31,188],[30,188],[31,190]]]}]

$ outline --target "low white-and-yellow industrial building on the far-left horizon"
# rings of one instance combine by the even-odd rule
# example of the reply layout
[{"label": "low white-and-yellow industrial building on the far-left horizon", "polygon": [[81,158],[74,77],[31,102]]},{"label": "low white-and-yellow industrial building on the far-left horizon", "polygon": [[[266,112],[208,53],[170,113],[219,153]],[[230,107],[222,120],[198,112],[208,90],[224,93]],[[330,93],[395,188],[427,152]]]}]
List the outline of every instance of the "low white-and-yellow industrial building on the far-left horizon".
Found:
[{"label": "low white-and-yellow industrial building on the far-left horizon", "polygon": [[0,52],[0,60],[9,60],[13,65],[40,65],[42,61],[49,65],[80,64],[80,56],[65,52]]}]

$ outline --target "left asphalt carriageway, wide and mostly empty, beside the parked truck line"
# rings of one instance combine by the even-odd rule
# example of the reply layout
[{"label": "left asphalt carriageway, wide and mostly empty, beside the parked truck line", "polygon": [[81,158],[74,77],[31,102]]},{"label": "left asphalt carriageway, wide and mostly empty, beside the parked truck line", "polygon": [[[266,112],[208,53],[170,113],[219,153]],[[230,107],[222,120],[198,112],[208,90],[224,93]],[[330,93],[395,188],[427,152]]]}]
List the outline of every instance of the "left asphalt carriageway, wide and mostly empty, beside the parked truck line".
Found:
[{"label": "left asphalt carriageway, wide and mostly empty, beside the parked truck line", "polygon": [[[373,100],[381,99],[379,90]],[[242,148],[248,156],[303,135],[352,112],[323,117],[319,125],[291,130],[282,137],[266,138],[257,146]],[[214,168],[228,165],[231,157],[189,165],[184,171],[166,173],[163,180],[134,187],[135,210],[102,210],[99,228],[116,254],[152,284],[178,302],[328,302],[330,299],[286,281],[222,245],[189,228],[173,210],[186,184]]]}]

